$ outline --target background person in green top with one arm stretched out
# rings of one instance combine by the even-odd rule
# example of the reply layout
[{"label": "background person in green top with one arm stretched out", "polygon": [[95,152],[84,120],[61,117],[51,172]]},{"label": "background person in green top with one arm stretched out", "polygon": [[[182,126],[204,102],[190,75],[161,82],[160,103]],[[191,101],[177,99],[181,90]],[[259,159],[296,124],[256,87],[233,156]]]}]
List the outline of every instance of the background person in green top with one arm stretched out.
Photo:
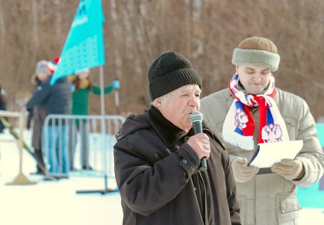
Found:
[{"label": "background person in green top with one arm stretched out", "polygon": [[[88,68],[79,70],[75,75],[70,75],[69,79],[72,83],[72,114],[73,115],[89,115],[89,93],[100,95],[100,86],[92,84],[89,79],[90,70]],[[109,94],[113,89],[118,89],[120,83],[114,80],[111,84],[104,87],[104,94]],[[87,120],[75,120],[70,124],[70,166],[74,169],[75,146],[77,143],[77,131],[80,132],[80,162],[82,169],[92,169],[89,165],[89,123]]]}]

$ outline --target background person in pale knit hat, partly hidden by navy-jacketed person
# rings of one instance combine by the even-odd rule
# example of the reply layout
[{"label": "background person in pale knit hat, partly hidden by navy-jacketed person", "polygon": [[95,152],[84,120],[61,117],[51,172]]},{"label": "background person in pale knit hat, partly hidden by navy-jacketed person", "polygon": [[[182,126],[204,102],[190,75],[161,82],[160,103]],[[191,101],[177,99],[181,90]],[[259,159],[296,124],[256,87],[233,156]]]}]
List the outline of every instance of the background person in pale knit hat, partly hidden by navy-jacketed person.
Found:
[{"label": "background person in pale knit hat, partly hidden by navy-jacketed person", "polygon": [[[40,60],[36,65],[35,74],[32,75],[32,84],[35,85],[34,94],[42,89],[42,83],[49,79],[50,72],[47,68],[48,62]],[[32,110],[28,111],[27,116],[27,129],[30,129],[32,119],[34,120],[32,126],[32,148],[35,150],[35,156],[38,160],[37,171],[35,174],[44,174],[43,151],[42,151],[42,127],[46,117],[46,111],[40,105],[35,105]],[[40,165],[39,165],[40,164]]]}]

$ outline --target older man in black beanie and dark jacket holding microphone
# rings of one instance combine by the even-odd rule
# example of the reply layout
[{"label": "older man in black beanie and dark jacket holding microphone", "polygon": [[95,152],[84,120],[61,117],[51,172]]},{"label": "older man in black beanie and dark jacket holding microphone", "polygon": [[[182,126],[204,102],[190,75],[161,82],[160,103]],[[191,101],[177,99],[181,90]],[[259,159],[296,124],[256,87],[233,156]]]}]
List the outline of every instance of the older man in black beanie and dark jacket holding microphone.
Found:
[{"label": "older man in black beanie and dark jacket holding microphone", "polygon": [[[115,173],[123,224],[240,224],[235,180],[218,131],[194,134],[201,78],[179,53],[149,68],[151,108],[131,115],[116,135]],[[202,158],[208,169],[199,171]]]}]

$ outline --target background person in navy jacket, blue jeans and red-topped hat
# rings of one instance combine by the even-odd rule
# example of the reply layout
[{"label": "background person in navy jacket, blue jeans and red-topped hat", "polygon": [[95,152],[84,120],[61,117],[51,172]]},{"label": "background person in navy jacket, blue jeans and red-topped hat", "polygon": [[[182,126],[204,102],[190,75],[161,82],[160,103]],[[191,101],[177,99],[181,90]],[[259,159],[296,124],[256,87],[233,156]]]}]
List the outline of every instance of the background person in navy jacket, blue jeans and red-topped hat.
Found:
[{"label": "background person in navy jacket, blue jeans and red-topped hat", "polygon": [[[48,70],[53,75],[59,57],[53,58],[48,64]],[[37,91],[27,102],[27,110],[32,110],[36,105],[44,108],[47,115],[70,115],[71,110],[71,85],[67,77],[57,79],[50,85],[50,78],[39,85]],[[48,129],[48,143],[45,143],[45,131],[42,131],[42,146],[44,158],[48,162],[48,170],[51,174],[67,175],[70,170],[70,160],[68,155],[68,128],[64,122],[50,120]],[[58,175],[61,176],[61,175]]]}]

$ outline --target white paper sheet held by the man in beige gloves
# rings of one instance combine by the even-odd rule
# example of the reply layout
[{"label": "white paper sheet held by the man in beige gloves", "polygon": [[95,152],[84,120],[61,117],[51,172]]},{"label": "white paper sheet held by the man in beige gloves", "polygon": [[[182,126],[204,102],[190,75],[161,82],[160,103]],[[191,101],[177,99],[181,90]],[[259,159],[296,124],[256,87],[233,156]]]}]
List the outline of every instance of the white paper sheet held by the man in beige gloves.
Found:
[{"label": "white paper sheet held by the man in beige gloves", "polygon": [[275,162],[280,162],[282,159],[293,160],[303,148],[303,145],[302,140],[259,143],[249,165],[266,168],[271,167]]}]

